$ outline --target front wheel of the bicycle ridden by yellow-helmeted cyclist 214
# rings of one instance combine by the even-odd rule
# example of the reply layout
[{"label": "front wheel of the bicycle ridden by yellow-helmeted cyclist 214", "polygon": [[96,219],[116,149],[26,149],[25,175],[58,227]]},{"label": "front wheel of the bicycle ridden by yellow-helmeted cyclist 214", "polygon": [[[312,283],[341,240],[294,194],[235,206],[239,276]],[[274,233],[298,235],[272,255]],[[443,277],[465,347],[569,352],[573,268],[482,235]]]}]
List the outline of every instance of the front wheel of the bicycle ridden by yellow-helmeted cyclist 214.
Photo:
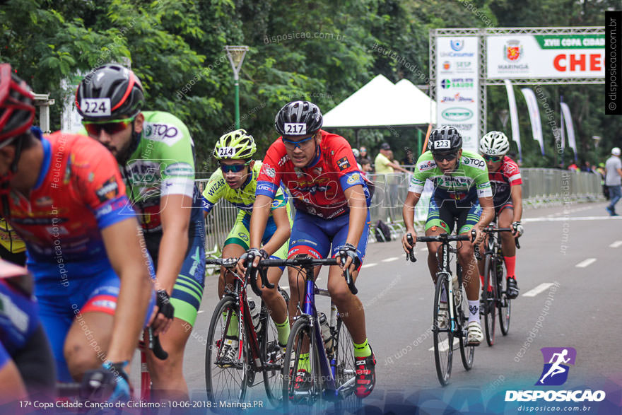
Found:
[{"label": "front wheel of the bicycle ridden by yellow-helmeted cyclist 214", "polygon": [[242,402],[246,395],[248,380],[248,344],[245,341],[242,347],[242,360],[237,360],[227,367],[218,366],[218,353],[224,344],[225,333],[231,323],[232,313],[239,313],[235,299],[225,296],[211,317],[205,349],[205,388],[207,399],[210,402]]}]

